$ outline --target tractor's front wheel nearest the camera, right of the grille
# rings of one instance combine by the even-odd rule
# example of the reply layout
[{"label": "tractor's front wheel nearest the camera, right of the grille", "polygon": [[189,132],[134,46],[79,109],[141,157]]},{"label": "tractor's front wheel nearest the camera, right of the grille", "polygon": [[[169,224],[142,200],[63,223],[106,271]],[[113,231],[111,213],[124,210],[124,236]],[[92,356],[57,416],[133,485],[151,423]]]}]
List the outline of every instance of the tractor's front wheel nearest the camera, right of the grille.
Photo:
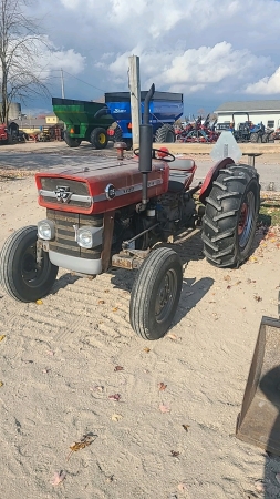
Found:
[{"label": "tractor's front wheel nearest the camera, right of the grille", "polygon": [[183,283],[182,262],[167,247],[152,251],[139,268],[131,296],[132,328],[144,339],[159,339],[174,319]]}]

